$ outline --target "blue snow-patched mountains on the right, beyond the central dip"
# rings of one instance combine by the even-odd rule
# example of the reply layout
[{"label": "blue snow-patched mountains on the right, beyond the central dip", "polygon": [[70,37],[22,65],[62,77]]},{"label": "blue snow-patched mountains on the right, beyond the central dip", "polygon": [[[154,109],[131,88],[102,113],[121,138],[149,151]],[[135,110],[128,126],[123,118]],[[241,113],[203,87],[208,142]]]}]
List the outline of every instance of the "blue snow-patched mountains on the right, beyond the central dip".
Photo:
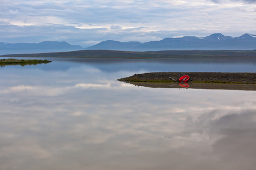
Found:
[{"label": "blue snow-patched mountains on the right, beyond the central dip", "polygon": [[108,49],[129,51],[158,51],[158,50],[254,50],[256,35],[244,34],[240,37],[224,36],[214,33],[207,37],[184,36],[166,38],[150,42],[119,42],[102,41],[86,49]]}]

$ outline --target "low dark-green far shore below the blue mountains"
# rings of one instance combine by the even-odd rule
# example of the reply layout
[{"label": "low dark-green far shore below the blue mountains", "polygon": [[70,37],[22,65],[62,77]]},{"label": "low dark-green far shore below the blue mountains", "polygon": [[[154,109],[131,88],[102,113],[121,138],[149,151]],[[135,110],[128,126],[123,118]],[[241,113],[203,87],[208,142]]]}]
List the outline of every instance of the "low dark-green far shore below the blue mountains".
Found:
[{"label": "low dark-green far shore below the blue mountains", "polygon": [[64,57],[64,58],[214,58],[256,59],[255,50],[163,50],[130,52],[120,50],[78,50],[35,54],[6,54],[0,57]]}]

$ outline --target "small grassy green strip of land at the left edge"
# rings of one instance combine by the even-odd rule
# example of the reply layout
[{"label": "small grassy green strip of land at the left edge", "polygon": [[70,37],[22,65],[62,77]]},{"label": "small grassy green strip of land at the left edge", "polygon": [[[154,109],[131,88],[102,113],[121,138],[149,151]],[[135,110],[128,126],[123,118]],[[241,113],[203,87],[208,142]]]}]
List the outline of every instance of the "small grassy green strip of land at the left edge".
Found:
[{"label": "small grassy green strip of land at the left edge", "polygon": [[14,59],[14,58],[8,58],[8,59],[0,59],[0,66],[6,66],[6,65],[37,65],[41,63],[49,63],[51,61],[47,59]]}]

